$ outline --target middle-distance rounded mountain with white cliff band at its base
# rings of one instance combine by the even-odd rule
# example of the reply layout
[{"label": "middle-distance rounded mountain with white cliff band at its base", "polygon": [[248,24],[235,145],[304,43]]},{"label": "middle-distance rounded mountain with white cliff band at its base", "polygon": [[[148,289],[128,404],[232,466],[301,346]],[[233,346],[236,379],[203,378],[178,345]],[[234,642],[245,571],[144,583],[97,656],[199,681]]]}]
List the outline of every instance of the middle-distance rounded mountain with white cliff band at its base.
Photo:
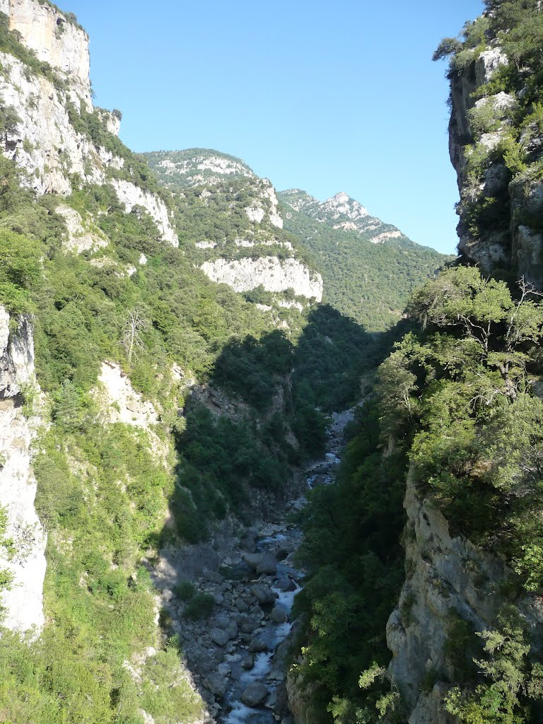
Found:
[{"label": "middle-distance rounded mountain with white cliff band at its base", "polygon": [[283,230],[269,180],[211,149],[157,151],[146,158],[174,196],[185,253],[210,279],[237,292],[258,290],[251,300],[268,307],[301,309],[310,299],[321,300],[321,277],[297,238]]}]

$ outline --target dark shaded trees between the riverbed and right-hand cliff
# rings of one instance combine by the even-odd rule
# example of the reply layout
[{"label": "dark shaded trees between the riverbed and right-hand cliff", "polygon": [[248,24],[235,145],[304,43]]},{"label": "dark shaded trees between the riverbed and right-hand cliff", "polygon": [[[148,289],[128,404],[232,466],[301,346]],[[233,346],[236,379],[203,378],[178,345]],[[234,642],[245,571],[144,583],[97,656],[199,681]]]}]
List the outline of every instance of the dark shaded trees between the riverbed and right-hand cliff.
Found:
[{"label": "dark shaded trees between the riverbed and right-hand cliff", "polygon": [[377,417],[375,401],[366,403],[337,482],[311,492],[297,554],[309,571],[295,599],[295,614],[303,614],[308,627],[300,673],[316,686],[321,710],[329,707],[338,722],[350,721],[348,712],[354,720],[355,710],[373,707],[386,695],[386,687],[379,689],[371,703],[358,677],[374,660],[379,666],[389,660],[385,625],[403,580],[406,460],[400,450],[377,450]]}]

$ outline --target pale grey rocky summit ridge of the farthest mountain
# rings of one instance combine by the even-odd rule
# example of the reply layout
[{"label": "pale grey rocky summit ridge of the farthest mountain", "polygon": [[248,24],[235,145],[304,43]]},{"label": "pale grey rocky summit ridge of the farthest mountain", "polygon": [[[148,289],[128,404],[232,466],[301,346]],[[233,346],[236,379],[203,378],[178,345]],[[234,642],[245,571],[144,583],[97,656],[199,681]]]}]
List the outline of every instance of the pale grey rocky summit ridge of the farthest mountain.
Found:
[{"label": "pale grey rocky summit ridge of the farthest mountain", "polygon": [[301,211],[332,229],[357,232],[374,244],[407,238],[397,227],[371,216],[361,203],[343,191],[322,203],[298,188],[282,191],[279,198],[294,211]]}]

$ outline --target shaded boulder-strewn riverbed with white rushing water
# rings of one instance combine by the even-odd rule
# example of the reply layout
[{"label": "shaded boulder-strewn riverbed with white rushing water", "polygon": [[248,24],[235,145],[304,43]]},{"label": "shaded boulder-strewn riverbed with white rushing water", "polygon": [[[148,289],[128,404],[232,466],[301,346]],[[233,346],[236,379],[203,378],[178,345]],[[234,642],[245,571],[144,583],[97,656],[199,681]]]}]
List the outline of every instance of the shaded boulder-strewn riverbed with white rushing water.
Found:
[{"label": "shaded boulder-strewn riverbed with white rushing water", "polygon": [[[332,480],[354,410],[332,416],[326,455],[306,468],[307,488]],[[290,500],[282,517],[288,520],[305,503],[305,494]],[[292,604],[303,586],[304,573],[292,560],[300,538],[295,524],[259,521],[227,529],[210,544],[164,555],[154,568],[161,616],[180,639],[210,724],[292,721],[285,670]],[[206,594],[212,609],[207,618],[187,615],[182,581],[193,583],[198,599]]]}]

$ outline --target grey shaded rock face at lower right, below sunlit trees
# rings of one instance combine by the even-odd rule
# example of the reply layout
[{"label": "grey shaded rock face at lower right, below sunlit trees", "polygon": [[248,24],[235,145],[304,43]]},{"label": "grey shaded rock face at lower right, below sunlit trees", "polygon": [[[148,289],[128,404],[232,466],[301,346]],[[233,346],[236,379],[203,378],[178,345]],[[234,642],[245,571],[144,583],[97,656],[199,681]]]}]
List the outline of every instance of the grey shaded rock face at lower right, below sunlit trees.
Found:
[{"label": "grey shaded rock face at lower right, below sunlit trees", "polygon": [[[492,628],[506,599],[508,571],[500,559],[451,534],[442,513],[416,493],[408,475],[404,507],[406,580],[387,623],[389,673],[403,696],[409,724],[452,722],[443,698],[455,681],[447,642],[455,615],[474,631]],[[526,597],[521,613],[537,639],[543,622],[539,599]],[[429,688],[427,681],[432,681]]]}]

